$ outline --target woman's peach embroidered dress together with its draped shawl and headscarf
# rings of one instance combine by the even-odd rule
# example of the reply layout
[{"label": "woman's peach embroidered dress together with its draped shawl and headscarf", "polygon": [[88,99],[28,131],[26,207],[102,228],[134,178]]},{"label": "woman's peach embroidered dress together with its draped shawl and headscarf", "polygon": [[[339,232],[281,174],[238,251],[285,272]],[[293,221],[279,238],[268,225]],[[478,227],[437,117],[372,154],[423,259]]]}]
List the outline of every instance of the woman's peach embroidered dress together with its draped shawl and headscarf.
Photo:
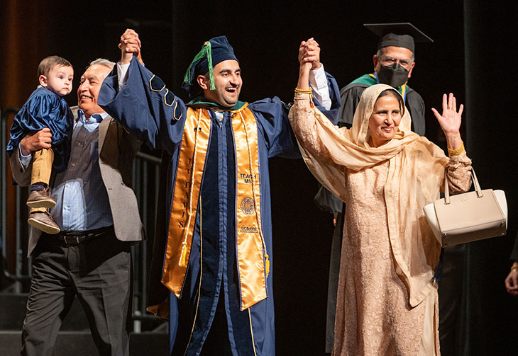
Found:
[{"label": "woman's peach embroidered dress together with its draped shawl and headscarf", "polygon": [[334,355],[439,355],[440,246],[422,207],[470,187],[465,152],[449,159],[411,132],[404,113],[394,139],[368,144],[368,120],[390,86],[365,89],[353,127],[329,124],[307,94],[296,93],[290,121],[314,176],[345,201]]}]

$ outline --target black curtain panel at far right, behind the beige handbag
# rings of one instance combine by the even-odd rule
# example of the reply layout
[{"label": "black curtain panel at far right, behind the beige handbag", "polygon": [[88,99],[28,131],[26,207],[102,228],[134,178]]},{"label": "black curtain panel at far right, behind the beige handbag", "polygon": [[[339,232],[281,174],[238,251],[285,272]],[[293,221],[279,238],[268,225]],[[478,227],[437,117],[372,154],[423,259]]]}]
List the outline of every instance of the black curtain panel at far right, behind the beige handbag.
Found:
[{"label": "black curtain panel at far right, behind the beige handbag", "polygon": [[503,189],[509,206],[508,234],[467,245],[465,350],[463,355],[516,355],[518,298],[505,291],[509,254],[517,231],[518,6],[464,1],[467,147],[480,185]]}]

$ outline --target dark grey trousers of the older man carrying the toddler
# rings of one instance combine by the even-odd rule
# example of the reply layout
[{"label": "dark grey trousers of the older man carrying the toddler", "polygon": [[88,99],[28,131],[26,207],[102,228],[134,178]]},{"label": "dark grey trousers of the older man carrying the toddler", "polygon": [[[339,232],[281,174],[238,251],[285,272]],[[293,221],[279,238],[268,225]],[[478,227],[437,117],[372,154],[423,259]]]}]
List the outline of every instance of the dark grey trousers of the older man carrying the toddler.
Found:
[{"label": "dark grey trousers of the older man carrying the toddler", "polygon": [[41,236],[33,252],[21,355],[52,355],[75,296],[87,315],[99,355],[129,355],[131,252],[129,243],[117,240],[113,229],[75,246],[57,236]]}]

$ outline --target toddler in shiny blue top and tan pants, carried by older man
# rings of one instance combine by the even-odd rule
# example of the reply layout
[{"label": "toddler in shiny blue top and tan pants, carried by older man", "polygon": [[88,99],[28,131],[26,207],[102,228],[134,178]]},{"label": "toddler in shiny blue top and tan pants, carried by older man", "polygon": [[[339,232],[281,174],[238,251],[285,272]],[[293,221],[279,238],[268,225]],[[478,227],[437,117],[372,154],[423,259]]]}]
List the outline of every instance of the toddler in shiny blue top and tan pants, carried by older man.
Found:
[{"label": "toddler in shiny blue top and tan pants, carried by older man", "polygon": [[65,170],[70,156],[73,116],[63,96],[72,91],[72,79],[74,69],[66,59],[57,56],[43,59],[38,66],[40,85],[14,117],[7,144],[7,154],[11,156],[29,132],[48,127],[52,133],[52,149],[39,149],[32,154],[31,192],[27,199],[31,207],[28,224],[48,234],[60,232],[47,211],[56,204],[50,197],[49,182],[53,167],[56,171]]}]

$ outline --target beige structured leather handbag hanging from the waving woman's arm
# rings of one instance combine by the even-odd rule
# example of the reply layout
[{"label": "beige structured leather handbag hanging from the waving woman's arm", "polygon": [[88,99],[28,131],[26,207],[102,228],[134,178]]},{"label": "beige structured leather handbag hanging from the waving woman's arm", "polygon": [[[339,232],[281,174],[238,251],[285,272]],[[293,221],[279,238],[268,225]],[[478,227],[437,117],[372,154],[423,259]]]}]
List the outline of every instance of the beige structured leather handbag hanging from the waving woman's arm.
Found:
[{"label": "beige structured leather handbag hanging from the waving woman's arm", "polygon": [[507,201],[503,190],[480,190],[475,171],[471,171],[475,191],[452,195],[448,175],[444,178],[444,197],[424,207],[424,214],[441,246],[452,246],[495,236],[507,229]]}]

